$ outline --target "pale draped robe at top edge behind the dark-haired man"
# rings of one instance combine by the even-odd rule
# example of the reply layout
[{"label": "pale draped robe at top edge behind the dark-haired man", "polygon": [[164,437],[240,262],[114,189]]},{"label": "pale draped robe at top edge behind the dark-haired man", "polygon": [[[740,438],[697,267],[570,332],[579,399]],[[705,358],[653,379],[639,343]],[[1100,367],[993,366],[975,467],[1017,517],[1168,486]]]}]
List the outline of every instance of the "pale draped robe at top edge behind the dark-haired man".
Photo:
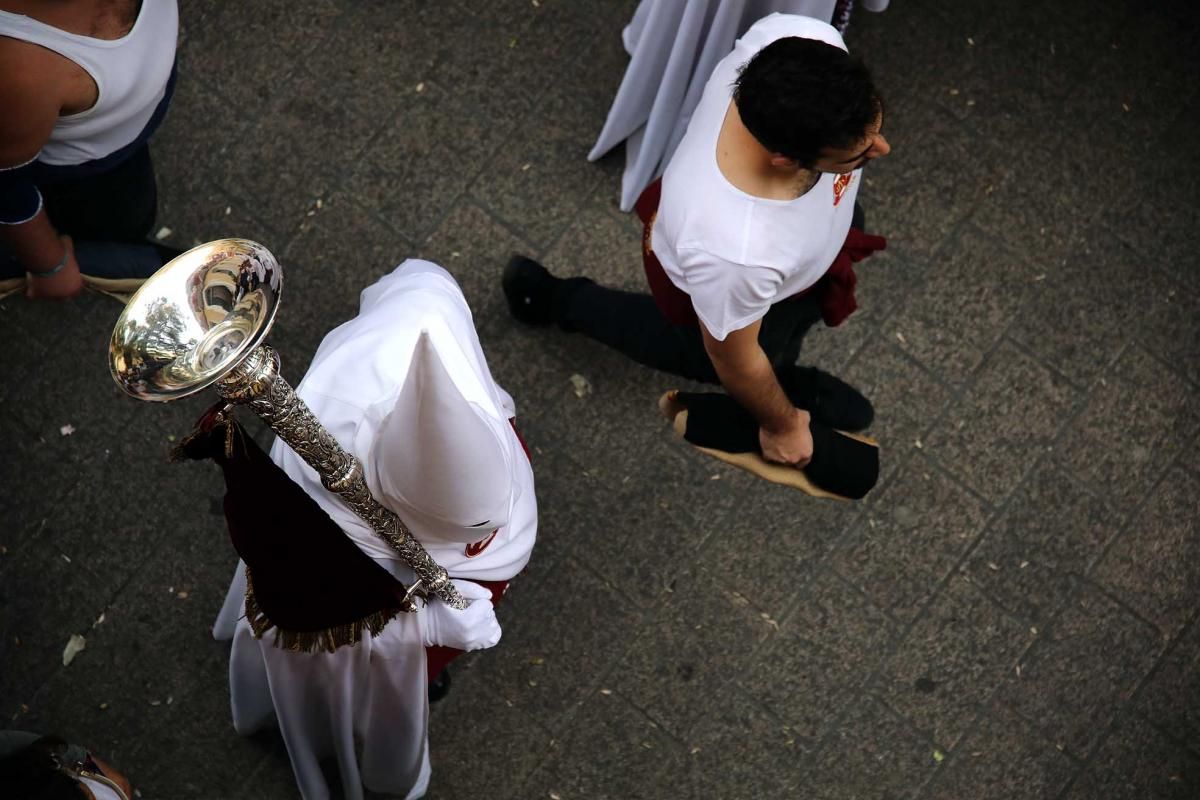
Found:
[{"label": "pale draped robe at top edge behind the dark-haired man", "polygon": [[[625,143],[620,207],[662,174],[688,130],[691,113],[718,61],[758,19],[774,12],[833,18],[836,0],[641,0],[622,40],[629,67],[600,137],[588,154],[595,161]],[[888,0],[862,6],[883,11]]]}]

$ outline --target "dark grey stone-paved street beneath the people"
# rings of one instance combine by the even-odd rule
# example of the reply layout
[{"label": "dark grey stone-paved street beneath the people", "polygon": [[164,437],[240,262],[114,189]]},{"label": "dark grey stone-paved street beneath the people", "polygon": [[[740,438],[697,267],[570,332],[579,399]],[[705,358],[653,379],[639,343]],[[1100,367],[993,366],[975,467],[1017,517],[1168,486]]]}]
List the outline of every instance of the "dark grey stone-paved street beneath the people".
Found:
[{"label": "dark grey stone-paved street beneath the people", "polygon": [[[182,2],[172,241],[278,253],[293,380],[362,285],[444,264],[535,449],[541,541],[436,708],[431,796],[1200,796],[1194,6],[857,17],[890,246],[805,357],[875,398],[886,475],[838,505],[688,451],[655,415],[671,379],[504,309],[514,249],[641,284],[620,156],[584,161],[631,5]],[[199,402],[118,396],[116,313],[0,303],[0,708],[143,798],[290,798],[209,638],[220,481],[163,459]]]}]

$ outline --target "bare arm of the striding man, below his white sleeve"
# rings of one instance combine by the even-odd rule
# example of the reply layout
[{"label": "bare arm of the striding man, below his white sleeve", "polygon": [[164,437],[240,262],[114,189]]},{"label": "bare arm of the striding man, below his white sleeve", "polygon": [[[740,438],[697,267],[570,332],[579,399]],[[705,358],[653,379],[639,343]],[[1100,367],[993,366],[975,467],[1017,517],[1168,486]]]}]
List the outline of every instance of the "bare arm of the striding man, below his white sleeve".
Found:
[{"label": "bare arm of the striding man, below his white sleeve", "polygon": [[758,443],[768,461],[803,467],[812,458],[809,413],[792,405],[758,345],[757,320],[719,341],[701,324],[704,350],[725,389],[758,420]]}]

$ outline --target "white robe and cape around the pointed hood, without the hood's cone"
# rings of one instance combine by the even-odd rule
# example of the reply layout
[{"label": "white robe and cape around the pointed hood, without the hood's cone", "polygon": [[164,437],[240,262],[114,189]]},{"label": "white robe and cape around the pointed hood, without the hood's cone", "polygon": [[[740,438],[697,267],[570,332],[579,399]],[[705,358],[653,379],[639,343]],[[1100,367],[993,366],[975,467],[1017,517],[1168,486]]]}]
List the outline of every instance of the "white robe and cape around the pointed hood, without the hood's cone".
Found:
[{"label": "white robe and cape around the pointed hood, without the hood's cone", "polygon": [[[409,259],[364,290],[359,317],[325,337],[296,387],[338,444],[360,461],[365,461],[380,422],[365,409],[378,407],[380,398],[398,391],[422,330],[443,337],[446,350],[462,356],[446,366],[464,397],[504,419],[515,415],[511,397],[487,368],[458,284],[442,267]],[[538,521],[533,470],[515,433],[510,444],[514,497],[509,524],[482,553],[468,557],[462,545],[426,540],[416,523],[406,519],[455,578],[508,579],[529,559]],[[364,553],[406,584],[412,582],[412,571],[392,558],[391,548],[322,487],[316,473],[290,447],[276,441],[271,458]],[[370,469],[368,464],[364,463],[364,469]],[[370,482],[372,476],[367,477]],[[275,648],[271,633],[254,638],[245,619],[245,587],[244,565],[239,564],[214,625],[216,638],[233,639],[229,690],[236,730],[248,734],[272,721],[278,724],[305,800],[329,796],[318,762],[330,756],[337,759],[347,800],[361,800],[364,784],[374,792],[422,796],[431,775],[427,620],[438,614],[439,628],[454,628],[456,612],[432,601],[418,613],[397,615],[379,636],[365,634],[354,646],[332,654],[298,654]],[[470,638],[472,632],[458,633]],[[355,754],[356,741],[361,758]]]}]

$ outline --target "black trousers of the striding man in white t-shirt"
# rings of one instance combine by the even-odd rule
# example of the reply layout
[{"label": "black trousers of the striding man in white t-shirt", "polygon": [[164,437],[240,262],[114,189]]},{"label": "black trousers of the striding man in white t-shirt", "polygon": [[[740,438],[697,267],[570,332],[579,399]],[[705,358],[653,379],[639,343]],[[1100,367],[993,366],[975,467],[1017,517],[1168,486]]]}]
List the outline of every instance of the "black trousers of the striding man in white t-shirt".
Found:
[{"label": "black trousers of the striding man in white t-shirt", "polygon": [[[623,353],[647,367],[706,384],[719,384],[697,325],[673,325],[648,294],[608,289],[592,282],[564,293],[557,321]],[[779,369],[796,363],[809,329],[821,319],[814,295],[778,302],[758,331],[758,344]]]}]

